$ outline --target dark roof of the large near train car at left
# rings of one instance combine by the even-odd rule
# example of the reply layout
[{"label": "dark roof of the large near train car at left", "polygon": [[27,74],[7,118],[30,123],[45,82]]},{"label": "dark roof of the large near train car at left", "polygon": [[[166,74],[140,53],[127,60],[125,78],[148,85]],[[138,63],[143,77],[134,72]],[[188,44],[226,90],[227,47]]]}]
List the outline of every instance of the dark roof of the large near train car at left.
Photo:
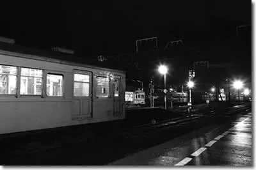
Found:
[{"label": "dark roof of the large near train car at left", "polygon": [[60,54],[59,52],[53,52],[50,50],[32,49],[21,45],[8,44],[3,42],[0,42],[0,54],[8,54],[10,56],[15,56],[19,58],[36,59],[40,61],[50,61],[52,63],[61,63],[64,65],[86,66],[99,70],[106,69],[113,72],[125,73],[124,70],[115,69],[113,68],[113,66],[102,66],[100,65],[101,62],[95,64],[89,59],[86,60],[85,58],[72,56],[70,54]]}]

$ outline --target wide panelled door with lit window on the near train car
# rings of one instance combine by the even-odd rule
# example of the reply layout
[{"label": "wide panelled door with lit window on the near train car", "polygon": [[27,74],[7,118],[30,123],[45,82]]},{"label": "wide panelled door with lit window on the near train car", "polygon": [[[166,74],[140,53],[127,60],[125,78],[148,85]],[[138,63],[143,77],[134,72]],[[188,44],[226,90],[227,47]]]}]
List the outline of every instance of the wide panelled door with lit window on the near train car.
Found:
[{"label": "wide panelled door with lit window on the near train car", "polygon": [[74,70],[72,79],[72,120],[91,118],[92,72]]}]

